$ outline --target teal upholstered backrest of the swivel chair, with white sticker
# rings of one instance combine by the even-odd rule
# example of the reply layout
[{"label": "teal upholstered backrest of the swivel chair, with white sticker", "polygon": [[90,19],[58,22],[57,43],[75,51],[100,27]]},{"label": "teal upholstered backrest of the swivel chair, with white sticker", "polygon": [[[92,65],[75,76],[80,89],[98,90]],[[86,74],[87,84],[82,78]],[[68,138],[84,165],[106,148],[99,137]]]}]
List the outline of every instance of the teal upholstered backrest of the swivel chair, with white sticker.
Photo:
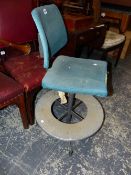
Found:
[{"label": "teal upholstered backrest of the swivel chair, with white sticker", "polygon": [[44,57],[44,68],[48,68],[49,59],[67,42],[65,25],[54,4],[35,8],[32,17],[39,33],[39,49],[41,56]]}]

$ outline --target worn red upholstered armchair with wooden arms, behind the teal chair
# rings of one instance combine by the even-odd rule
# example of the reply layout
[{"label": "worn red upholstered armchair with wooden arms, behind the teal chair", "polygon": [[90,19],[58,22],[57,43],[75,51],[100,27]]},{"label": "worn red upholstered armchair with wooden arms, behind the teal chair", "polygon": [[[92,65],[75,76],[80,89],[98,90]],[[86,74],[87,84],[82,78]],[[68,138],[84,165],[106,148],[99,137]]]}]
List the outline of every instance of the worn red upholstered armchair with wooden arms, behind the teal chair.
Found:
[{"label": "worn red upholstered armchair with wooden arms, behind the teal chair", "polygon": [[[0,0],[0,40],[17,44],[30,43],[32,46],[31,53],[24,55],[21,51],[17,52],[16,49],[0,45],[0,50],[5,51],[2,64],[6,73],[24,89],[24,101],[30,124],[34,123],[34,97],[41,88],[41,80],[45,74],[43,59],[36,52],[37,32],[31,17],[31,11],[35,6],[35,0]],[[13,46],[18,49],[23,47]]]}]

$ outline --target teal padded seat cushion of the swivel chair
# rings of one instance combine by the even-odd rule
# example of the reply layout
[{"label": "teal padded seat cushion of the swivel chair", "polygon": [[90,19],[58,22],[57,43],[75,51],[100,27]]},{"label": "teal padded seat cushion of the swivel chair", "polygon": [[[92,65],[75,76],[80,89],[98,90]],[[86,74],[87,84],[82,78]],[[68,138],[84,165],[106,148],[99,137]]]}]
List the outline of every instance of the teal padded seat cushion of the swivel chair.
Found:
[{"label": "teal padded seat cushion of the swivel chair", "polygon": [[98,96],[107,95],[107,63],[59,56],[42,80],[43,88]]}]

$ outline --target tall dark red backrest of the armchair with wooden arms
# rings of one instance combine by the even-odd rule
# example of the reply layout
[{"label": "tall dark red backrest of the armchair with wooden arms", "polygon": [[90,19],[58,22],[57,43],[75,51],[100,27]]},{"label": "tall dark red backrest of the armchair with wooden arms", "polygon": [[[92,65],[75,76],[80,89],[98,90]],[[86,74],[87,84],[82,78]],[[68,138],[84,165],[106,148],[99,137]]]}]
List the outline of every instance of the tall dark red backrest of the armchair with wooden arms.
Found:
[{"label": "tall dark red backrest of the armchair with wooden arms", "polygon": [[15,43],[37,39],[31,17],[34,6],[34,0],[0,0],[0,39]]}]

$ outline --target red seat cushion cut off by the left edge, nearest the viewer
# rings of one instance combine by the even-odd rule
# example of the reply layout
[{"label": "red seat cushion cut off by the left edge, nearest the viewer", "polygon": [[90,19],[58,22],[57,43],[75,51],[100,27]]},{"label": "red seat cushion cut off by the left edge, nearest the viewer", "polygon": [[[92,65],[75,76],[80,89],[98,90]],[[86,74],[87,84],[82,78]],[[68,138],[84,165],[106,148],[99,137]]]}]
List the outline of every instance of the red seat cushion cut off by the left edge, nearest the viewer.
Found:
[{"label": "red seat cushion cut off by the left edge, nearest the viewer", "polygon": [[0,103],[23,93],[24,88],[12,78],[0,72]]}]

